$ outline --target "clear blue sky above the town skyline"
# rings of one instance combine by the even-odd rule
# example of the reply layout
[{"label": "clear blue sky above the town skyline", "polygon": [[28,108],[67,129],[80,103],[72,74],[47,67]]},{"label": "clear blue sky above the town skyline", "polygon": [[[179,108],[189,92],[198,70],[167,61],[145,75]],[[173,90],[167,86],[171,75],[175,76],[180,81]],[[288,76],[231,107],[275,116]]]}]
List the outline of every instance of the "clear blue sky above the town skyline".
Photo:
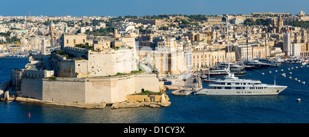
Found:
[{"label": "clear blue sky above the town skyline", "polygon": [[1,0],[1,16],[145,16],[159,14],[309,14],[309,0]]}]

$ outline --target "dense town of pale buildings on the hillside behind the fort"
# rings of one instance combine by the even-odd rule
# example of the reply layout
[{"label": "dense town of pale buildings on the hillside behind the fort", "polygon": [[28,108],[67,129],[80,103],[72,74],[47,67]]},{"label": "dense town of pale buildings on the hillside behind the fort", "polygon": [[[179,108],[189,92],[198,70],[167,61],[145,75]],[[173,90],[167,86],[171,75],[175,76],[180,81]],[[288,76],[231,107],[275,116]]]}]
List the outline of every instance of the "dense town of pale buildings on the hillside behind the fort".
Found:
[{"label": "dense town of pale buildings on the hillside behind the fort", "polygon": [[[0,56],[29,56],[43,49],[49,54],[60,47],[78,44],[89,45],[91,50],[113,50],[128,45],[139,47],[140,59],[146,57],[141,54],[141,48],[152,49],[153,54],[165,48],[167,52],[181,51],[185,67],[198,70],[227,60],[226,20],[232,62],[247,58],[308,56],[309,16],[302,11],[297,15],[253,12],[216,16],[0,17]],[[208,55],[204,58],[206,62],[201,60],[203,52]],[[179,70],[186,69],[170,73]]]}]

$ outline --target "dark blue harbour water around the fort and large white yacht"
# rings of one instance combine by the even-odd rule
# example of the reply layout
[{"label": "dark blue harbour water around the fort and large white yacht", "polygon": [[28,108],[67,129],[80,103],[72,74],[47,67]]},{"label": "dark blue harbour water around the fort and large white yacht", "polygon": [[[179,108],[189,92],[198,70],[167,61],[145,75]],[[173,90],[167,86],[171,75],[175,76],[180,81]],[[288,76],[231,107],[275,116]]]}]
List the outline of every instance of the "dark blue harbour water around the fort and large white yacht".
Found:
[{"label": "dark blue harbour water around the fort and large white yacht", "polygon": [[[26,63],[27,59],[0,59],[0,81],[10,79],[11,70],[23,68]],[[172,102],[170,107],[131,109],[0,102],[0,123],[309,123],[309,67],[295,69],[296,66],[301,65],[283,64],[248,71],[246,76],[240,77],[273,84],[275,76],[277,85],[288,85],[288,89],[276,96],[173,96],[171,90],[167,90]],[[290,70],[293,74],[288,74],[288,67],[294,67]],[[282,73],[286,73],[286,78]],[[305,81],[306,85],[288,76]],[[204,87],[207,85],[203,83]],[[301,98],[300,103],[297,98]]]}]

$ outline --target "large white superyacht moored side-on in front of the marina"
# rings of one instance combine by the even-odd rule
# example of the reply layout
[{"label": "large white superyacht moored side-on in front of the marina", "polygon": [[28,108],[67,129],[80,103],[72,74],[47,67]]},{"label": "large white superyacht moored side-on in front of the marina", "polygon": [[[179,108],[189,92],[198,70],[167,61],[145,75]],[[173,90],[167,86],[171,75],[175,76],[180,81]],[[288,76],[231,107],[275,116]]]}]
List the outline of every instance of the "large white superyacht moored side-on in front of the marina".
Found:
[{"label": "large white superyacht moored side-on in front of the marina", "polygon": [[239,79],[229,73],[225,80],[216,80],[216,83],[209,84],[212,88],[201,89],[196,94],[206,95],[276,95],[286,89],[284,85],[268,85],[261,81]]}]

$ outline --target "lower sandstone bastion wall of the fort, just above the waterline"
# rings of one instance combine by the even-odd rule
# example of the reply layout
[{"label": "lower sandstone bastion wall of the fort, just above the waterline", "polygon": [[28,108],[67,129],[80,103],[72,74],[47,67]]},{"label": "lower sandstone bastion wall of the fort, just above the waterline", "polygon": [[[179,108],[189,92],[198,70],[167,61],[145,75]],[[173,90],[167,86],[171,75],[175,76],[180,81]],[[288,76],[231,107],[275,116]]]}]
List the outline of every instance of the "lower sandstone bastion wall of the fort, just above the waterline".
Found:
[{"label": "lower sandstone bastion wall of the fort, just above the waterline", "polygon": [[21,83],[22,97],[43,101],[78,103],[115,103],[142,89],[159,92],[156,74],[132,74],[93,78],[30,78]]}]

